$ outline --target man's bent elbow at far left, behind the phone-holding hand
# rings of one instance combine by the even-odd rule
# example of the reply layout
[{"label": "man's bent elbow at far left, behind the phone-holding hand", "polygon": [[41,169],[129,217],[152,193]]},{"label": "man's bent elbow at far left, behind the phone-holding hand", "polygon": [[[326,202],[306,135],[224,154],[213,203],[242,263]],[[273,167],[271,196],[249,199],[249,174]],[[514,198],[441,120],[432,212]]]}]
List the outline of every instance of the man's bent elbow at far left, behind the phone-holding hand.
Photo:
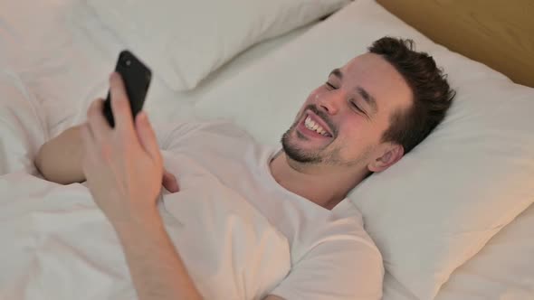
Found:
[{"label": "man's bent elbow at far left, behind the phone-holding hand", "polygon": [[83,147],[80,128],[70,127],[41,146],[34,163],[44,179],[62,184],[85,181],[81,169]]}]

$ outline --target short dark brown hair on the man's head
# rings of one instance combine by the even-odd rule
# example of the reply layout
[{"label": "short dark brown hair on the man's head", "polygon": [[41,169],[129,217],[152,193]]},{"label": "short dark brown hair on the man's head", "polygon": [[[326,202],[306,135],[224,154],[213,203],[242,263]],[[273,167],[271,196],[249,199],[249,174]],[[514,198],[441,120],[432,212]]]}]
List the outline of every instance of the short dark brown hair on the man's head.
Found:
[{"label": "short dark brown hair on the man's head", "polygon": [[393,37],[383,37],[368,48],[391,63],[412,89],[412,107],[397,111],[382,136],[383,142],[402,145],[405,154],[440,124],[456,94],[432,56],[414,49],[414,41]]}]

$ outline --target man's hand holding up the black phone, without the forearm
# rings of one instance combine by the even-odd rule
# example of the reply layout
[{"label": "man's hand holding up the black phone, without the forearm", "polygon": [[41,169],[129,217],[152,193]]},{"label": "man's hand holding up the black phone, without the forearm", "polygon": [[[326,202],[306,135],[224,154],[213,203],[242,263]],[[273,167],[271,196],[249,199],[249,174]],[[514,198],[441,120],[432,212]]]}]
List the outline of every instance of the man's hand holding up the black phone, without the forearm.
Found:
[{"label": "man's hand holding up the black phone, without the forearm", "polygon": [[[102,115],[103,99],[91,104],[81,127],[82,170],[94,198],[111,223],[142,222],[157,214],[157,196],[164,178],[156,135],[144,112],[135,122],[119,74],[110,77],[111,128]],[[176,186],[177,188],[177,186]]]}]

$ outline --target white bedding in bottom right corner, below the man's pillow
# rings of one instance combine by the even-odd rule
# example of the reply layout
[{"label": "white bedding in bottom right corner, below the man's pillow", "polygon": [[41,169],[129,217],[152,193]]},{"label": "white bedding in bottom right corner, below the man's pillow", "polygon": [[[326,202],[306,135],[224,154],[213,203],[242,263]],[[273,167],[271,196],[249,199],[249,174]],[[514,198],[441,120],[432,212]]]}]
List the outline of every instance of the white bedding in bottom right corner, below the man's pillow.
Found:
[{"label": "white bedding in bottom right corner, below the man's pillow", "polygon": [[531,299],[534,295],[534,205],[457,268],[436,300]]}]

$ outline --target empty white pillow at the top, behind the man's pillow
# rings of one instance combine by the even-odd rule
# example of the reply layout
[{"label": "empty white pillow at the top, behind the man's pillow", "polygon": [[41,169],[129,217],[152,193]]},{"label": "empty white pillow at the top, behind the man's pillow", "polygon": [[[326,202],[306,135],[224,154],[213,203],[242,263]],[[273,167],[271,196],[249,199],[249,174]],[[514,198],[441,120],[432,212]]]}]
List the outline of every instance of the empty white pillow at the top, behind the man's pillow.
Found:
[{"label": "empty white pillow at the top, behind the man's pillow", "polygon": [[349,0],[88,0],[102,23],[171,89],[193,89],[257,42],[287,33]]}]

